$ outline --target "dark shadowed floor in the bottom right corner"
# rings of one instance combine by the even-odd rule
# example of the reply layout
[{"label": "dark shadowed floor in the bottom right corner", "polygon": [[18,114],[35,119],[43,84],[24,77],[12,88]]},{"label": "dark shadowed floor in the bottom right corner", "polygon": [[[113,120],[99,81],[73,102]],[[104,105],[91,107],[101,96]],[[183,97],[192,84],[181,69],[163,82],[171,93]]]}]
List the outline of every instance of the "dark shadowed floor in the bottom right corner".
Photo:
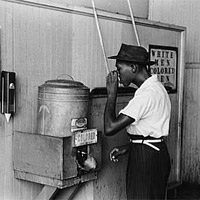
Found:
[{"label": "dark shadowed floor in the bottom right corner", "polygon": [[168,191],[167,199],[176,199],[176,200],[200,200],[200,185],[187,185],[182,184],[176,189]]}]

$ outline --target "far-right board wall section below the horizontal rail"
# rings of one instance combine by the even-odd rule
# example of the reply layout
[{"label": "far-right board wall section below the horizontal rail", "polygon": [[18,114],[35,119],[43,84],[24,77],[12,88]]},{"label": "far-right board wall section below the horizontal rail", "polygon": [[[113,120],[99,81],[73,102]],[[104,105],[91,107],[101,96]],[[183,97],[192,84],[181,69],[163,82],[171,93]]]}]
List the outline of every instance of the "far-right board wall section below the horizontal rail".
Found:
[{"label": "far-right board wall section below the horizontal rail", "polygon": [[184,182],[200,184],[200,70],[187,65],[184,95],[182,176]]}]

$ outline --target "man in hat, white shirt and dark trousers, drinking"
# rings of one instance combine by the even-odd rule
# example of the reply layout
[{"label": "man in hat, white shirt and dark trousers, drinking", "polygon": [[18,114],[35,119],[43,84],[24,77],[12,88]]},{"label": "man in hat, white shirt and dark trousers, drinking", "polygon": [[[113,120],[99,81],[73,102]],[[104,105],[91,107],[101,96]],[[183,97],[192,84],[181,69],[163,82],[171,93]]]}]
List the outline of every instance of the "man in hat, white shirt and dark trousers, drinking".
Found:
[{"label": "man in hat, white shirt and dark trousers, drinking", "polygon": [[[112,136],[126,127],[130,144],[114,148],[112,161],[129,152],[126,192],[128,199],[165,199],[170,173],[170,157],[164,137],[169,133],[171,103],[157,75],[149,73],[149,54],[143,47],[122,44],[116,59],[117,71],[106,80],[107,103],[104,132]],[[118,78],[125,87],[131,83],[138,89],[119,115],[115,113]]]}]

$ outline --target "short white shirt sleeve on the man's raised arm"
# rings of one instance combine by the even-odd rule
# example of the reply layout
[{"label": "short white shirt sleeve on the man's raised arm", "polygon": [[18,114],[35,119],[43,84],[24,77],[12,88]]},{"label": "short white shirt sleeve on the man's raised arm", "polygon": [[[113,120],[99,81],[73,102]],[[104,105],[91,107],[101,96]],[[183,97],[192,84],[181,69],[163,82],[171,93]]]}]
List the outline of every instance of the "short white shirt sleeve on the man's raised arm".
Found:
[{"label": "short white shirt sleeve on the man's raised arm", "polygon": [[135,96],[129,101],[126,107],[120,110],[119,114],[127,115],[133,118],[135,121],[133,124],[137,124],[142,118],[145,118],[147,113],[152,107],[152,98],[149,92]]}]

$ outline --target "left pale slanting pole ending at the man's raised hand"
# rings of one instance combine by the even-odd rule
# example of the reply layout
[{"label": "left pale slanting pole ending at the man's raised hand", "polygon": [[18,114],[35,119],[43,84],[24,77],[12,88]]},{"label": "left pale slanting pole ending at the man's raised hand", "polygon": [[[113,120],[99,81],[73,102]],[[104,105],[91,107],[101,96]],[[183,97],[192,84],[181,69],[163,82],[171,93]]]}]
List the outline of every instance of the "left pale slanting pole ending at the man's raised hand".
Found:
[{"label": "left pale slanting pole ending at the man's raised hand", "polygon": [[95,22],[96,22],[96,26],[97,26],[97,31],[98,31],[98,35],[99,35],[99,40],[100,40],[100,44],[101,44],[101,49],[103,51],[106,71],[107,71],[107,73],[109,73],[110,70],[109,70],[109,67],[108,67],[108,60],[107,60],[107,57],[106,57],[106,52],[105,52],[105,48],[104,48],[104,44],[103,44],[103,39],[102,39],[102,36],[101,36],[101,30],[100,30],[100,26],[99,26],[99,22],[98,22],[98,17],[97,17],[97,12],[96,12],[96,9],[95,9],[94,0],[91,0],[91,1],[92,1],[92,7],[93,7],[93,12],[94,12]]}]

